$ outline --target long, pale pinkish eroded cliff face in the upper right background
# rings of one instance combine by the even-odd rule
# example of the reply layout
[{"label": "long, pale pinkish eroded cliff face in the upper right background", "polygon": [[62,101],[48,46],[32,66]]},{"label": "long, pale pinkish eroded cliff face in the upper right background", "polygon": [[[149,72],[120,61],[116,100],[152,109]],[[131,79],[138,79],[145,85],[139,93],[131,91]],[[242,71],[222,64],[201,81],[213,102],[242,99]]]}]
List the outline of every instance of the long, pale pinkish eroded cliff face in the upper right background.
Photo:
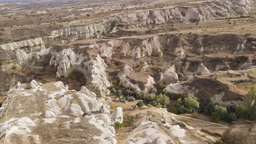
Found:
[{"label": "long, pale pinkish eroded cliff face in the upper right background", "polygon": [[[116,16],[118,20],[129,22],[129,20],[141,20],[144,25],[168,23],[173,20],[184,22],[200,22],[218,17],[234,16],[235,14],[244,14],[250,11],[247,4],[250,0],[220,1],[213,0],[203,3],[200,7],[174,7],[163,10],[148,10],[138,13],[128,13]],[[230,5],[235,7],[230,7]],[[236,6],[237,4],[237,6]],[[233,10],[234,9],[234,10]]]}]

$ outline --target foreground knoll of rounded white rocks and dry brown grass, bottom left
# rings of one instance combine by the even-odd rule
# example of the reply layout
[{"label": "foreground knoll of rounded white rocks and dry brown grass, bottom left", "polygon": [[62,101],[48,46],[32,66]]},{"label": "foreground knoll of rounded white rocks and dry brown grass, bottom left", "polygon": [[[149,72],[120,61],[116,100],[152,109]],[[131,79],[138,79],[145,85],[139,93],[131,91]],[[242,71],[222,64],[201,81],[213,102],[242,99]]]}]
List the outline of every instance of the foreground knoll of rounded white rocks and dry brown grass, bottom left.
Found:
[{"label": "foreground knoll of rounded white rocks and dry brown grass, bottom left", "polygon": [[[1,143],[48,143],[53,140],[65,143],[68,139],[69,142],[116,144],[113,124],[122,122],[122,108],[110,111],[109,106],[98,102],[95,93],[86,87],[76,92],[68,90],[62,82],[42,85],[35,80],[31,81],[30,89],[24,86],[18,82],[11,87],[0,108]],[[54,131],[38,131],[41,128],[53,128]],[[87,138],[72,135],[79,131]],[[62,136],[51,137],[49,132]]]}]

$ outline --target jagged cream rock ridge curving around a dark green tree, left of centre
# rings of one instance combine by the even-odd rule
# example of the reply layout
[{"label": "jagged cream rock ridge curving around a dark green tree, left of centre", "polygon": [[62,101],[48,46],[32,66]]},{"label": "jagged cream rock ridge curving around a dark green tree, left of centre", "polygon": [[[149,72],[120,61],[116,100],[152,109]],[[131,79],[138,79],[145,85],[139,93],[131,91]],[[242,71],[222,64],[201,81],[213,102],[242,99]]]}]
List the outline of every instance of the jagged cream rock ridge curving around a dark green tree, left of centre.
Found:
[{"label": "jagged cream rock ridge curving around a dark green tree, left of centre", "polygon": [[57,67],[57,77],[63,75],[66,78],[72,69],[81,70],[86,77],[86,87],[95,92],[97,97],[105,97],[110,93],[107,89],[110,83],[105,72],[107,65],[99,55],[88,60],[87,56],[75,54],[71,49],[63,49],[61,52],[52,53],[49,65]]}]

